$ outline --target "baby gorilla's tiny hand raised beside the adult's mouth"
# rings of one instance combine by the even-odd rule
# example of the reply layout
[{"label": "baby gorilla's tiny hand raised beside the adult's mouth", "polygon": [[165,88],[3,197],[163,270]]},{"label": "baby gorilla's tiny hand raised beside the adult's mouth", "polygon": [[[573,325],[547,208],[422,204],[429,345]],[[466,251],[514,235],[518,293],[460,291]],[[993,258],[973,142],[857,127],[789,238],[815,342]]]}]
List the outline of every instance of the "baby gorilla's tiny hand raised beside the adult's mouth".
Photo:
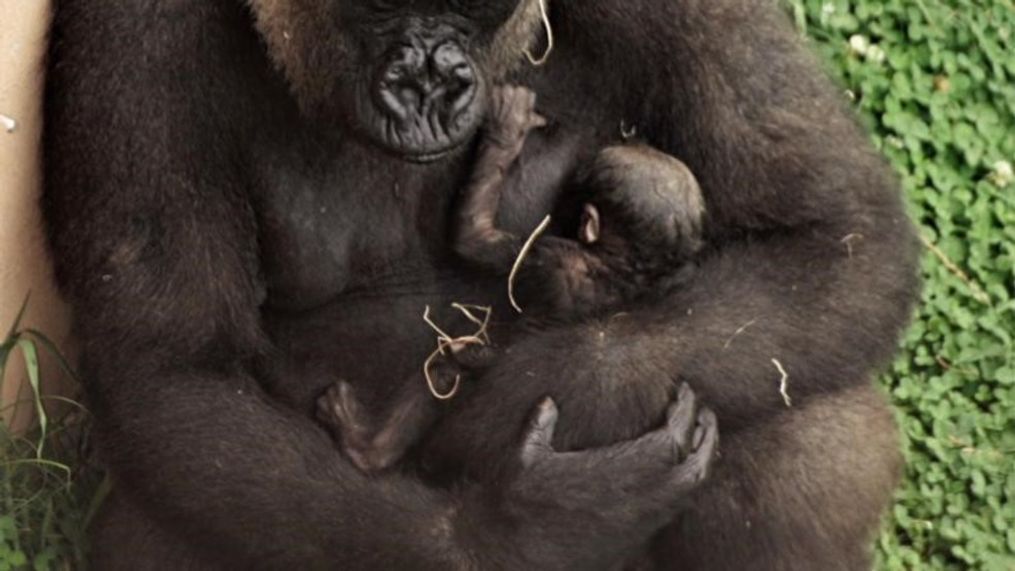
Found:
[{"label": "baby gorilla's tiny hand raised beside the adult's mouth", "polygon": [[501,166],[522,152],[529,131],[543,127],[546,120],[536,113],[536,93],[518,85],[499,85],[490,93],[486,120],[486,142],[503,151]]}]

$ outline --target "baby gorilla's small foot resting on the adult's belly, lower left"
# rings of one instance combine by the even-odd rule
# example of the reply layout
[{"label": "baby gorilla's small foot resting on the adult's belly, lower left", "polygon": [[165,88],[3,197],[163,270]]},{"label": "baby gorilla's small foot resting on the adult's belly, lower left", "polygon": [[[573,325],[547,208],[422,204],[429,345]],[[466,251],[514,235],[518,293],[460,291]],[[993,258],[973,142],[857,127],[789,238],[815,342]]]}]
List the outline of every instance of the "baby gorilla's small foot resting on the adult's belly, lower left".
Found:
[{"label": "baby gorilla's small foot resting on the adult's belly, lower left", "polygon": [[399,454],[379,442],[379,428],[356,400],[352,385],[340,380],[318,399],[318,420],[327,426],[346,457],[363,472],[380,472]]}]

